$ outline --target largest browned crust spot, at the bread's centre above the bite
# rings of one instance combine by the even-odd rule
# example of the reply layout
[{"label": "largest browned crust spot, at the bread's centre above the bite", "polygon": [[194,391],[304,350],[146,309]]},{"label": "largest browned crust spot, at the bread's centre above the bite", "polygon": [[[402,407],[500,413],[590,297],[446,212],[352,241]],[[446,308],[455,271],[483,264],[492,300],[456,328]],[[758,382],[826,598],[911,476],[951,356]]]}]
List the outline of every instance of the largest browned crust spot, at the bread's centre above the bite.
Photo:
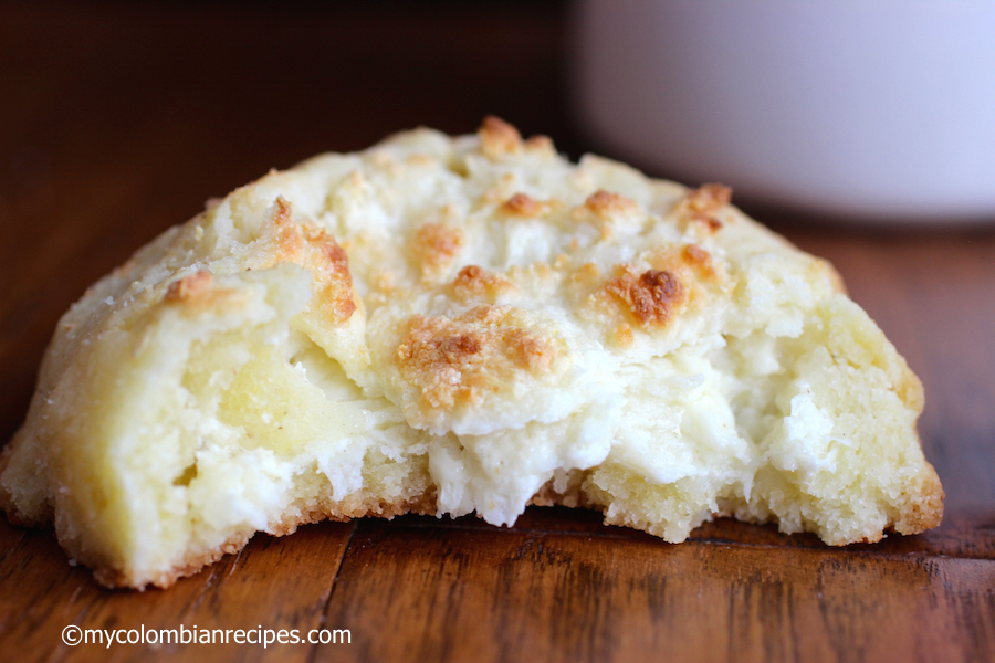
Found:
[{"label": "largest browned crust spot, at the bread's centre above the bite", "polygon": [[521,371],[548,370],[555,357],[556,347],[515,325],[507,306],[478,306],[451,319],[412,316],[395,356],[432,410],[476,404]]}]

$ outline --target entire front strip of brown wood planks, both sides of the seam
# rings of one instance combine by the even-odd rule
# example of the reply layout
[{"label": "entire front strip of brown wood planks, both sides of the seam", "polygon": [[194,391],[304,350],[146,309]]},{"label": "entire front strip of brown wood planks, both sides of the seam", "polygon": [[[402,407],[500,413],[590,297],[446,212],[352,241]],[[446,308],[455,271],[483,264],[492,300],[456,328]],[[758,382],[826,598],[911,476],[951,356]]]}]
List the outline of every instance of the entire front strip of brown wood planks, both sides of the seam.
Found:
[{"label": "entire front strip of brown wood planks, both sides of the seam", "polygon": [[[56,661],[624,661],[646,652],[687,661],[984,661],[995,648],[995,560],[779,545],[756,538],[758,530],[769,528],[720,522],[713,538],[699,532],[674,546],[604,527],[586,512],[538,507],[512,529],[415,516],[360,520],[355,533],[324,524],[286,539],[258,537],[240,556],[145,593],[98,588],[66,565],[51,537],[33,533],[20,561],[0,567],[0,583],[27,599],[30,613],[0,613],[0,624],[4,644]],[[256,622],[347,629],[350,643],[57,643],[72,623]],[[910,624],[929,628],[910,633]]]}]

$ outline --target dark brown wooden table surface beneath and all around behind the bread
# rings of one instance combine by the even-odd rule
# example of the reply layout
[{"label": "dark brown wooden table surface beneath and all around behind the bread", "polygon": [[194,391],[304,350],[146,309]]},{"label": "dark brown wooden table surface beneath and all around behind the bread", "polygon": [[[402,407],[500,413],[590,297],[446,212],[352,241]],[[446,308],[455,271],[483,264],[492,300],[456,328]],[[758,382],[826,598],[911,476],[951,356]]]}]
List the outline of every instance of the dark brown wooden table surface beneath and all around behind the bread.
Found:
[{"label": "dark brown wooden table surface beneath and all around behind the bread", "polygon": [[[565,6],[0,6],[3,440],[69,304],[209,197],[485,113],[591,148],[569,113]],[[940,528],[831,549],[732,522],[672,546],[561,508],[511,529],[365,519],[256,536],[139,593],[0,518],[0,660],[995,660],[995,234],[807,221],[776,227],[835,262],[925,385]],[[69,624],[348,629],[350,643],[70,648]]]}]

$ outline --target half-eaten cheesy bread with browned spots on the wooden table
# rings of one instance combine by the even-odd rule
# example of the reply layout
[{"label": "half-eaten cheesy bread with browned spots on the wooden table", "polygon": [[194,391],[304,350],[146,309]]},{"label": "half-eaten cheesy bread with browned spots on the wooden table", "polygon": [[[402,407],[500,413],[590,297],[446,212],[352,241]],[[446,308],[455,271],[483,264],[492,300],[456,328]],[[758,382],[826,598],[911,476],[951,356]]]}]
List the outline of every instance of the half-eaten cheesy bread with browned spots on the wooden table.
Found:
[{"label": "half-eaten cheesy bread with browned spots on the wooden table", "polygon": [[939,524],[922,388],[825,261],[687,189],[489,118],[238,189],[60,322],[6,449],[11,520],[108,586],[255,532],[526,505],[683,540]]}]

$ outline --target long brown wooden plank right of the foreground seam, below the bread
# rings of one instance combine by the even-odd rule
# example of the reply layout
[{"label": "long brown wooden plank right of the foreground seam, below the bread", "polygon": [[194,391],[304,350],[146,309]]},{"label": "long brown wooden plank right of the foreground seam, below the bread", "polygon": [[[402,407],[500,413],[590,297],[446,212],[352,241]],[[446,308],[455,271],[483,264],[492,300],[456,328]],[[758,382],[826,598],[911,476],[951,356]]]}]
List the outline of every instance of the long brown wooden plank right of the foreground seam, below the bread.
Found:
[{"label": "long brown wooden plank right of the foreground seam, below the bread", "polygon": [[364,523],[327,621],[365,628],[316,660],[981,660],[993,588],[992,560]]}]

